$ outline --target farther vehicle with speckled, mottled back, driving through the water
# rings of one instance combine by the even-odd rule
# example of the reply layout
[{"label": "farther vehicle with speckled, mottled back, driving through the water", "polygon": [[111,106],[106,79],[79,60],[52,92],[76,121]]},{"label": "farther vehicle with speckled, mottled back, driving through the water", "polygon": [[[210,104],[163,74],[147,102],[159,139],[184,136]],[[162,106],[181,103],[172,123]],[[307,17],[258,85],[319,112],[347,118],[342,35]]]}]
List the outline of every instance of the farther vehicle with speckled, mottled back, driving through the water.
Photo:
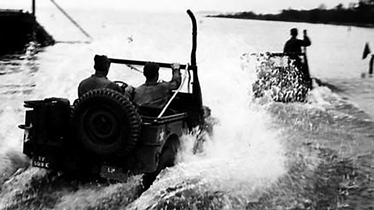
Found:
[{"label": "farther vehicle with speckled, mottled back, driving through the water", "polygon": [[[246,55],[246,54],[244,54]],[[276,102],[305,102],[312,89],[306,53],[251,54],[261,61],[252,84],[254,98],[270,93]]]}]

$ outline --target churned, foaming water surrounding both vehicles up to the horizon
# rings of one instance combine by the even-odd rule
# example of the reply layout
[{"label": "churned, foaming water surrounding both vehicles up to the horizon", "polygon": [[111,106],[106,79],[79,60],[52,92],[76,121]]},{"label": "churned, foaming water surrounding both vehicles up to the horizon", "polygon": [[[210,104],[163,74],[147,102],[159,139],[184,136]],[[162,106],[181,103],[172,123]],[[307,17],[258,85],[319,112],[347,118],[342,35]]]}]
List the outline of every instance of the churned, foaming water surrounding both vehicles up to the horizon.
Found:
[{"label": "churned, foaming water surrounding both vehicles up to the horizon", "polygon": [[[24,121],[24,100],[63,97],[73,101],[79,82],[93,72],[95,54],[189,62],[191,25],[187,14],[68,12],[92,35],[91,44],[62,42],[36,57],[1,64],[1,209],[373,206],[370,196],[374,185],[368,177],[372,177],[374,165],[374,109],[370,106],[374,85],[373,78],[361,78],[368,68],[368,61],[361,61],[361,56],[365,41],[374,43],[374,30],[352,27],[347,32],[342,26],[204,18],[200,14],[196,14],[197,65],[203,102],[220,121],[214,135],[207,138],[203,154],[191,154],[195,138],[185,135],[177,166],[162,172],[140,198],[140,177],[107,186],[45,178],[44,170],[26,169],[4,183],[27,165],[20,155],[23,132],[17,128]],[[87,41],[57,10],[40,11],[38,20],[58,41]],[[253,100],[256,62],[243,61],[241,55],[281,52],[292,27],[308,29],[311,74],[338,91],[316,87],[307,104]],[[165,80],[171,77],[167,70],[161,74]],[[144,81],[138,72],[115,64],[108,78],[133,86]],[[363,186],[362,191],[355,190]]]}]

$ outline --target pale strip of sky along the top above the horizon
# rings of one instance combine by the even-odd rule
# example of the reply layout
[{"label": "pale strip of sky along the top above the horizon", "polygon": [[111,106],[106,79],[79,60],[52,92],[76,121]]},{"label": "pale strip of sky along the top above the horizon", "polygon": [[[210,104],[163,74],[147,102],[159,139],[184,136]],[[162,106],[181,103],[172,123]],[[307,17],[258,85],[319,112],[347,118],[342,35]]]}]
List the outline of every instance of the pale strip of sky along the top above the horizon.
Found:
[{"label": "pale strip of sky along the top above the horizon", "polygon": [[[116,8],[131,10],[169,10],[181,11],[254,11],[257,13],[277,13],[289,7],[294,9],[313,9],[324,3],[333,7],[338,3],[347,6],[358,0],[55,0],[63,8]],[[52,6],[50,0],[36,0],[39,7]],[[31,0],[0,0],[0,8],[29,9]]]}]

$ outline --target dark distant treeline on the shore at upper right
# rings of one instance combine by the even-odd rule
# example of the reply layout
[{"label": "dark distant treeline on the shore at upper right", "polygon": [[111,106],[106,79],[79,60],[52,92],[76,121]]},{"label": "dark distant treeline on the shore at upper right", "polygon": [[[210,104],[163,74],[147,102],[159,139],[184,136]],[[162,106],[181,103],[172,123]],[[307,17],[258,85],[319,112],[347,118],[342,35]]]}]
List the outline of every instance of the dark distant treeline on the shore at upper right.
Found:
[{"label": "dark distant treeline on the shore at upper right", "polygon": [[279,14],[256,14],[238,12],[231,14],[208,15],[208,17],[255,19],[265,21],[309,22],[322,24],[355,25],[374,27],[374,0],[359,0],[347,7],[338,4],[333,9],[326,9],[324,4],[312,10],[282,10]]}]

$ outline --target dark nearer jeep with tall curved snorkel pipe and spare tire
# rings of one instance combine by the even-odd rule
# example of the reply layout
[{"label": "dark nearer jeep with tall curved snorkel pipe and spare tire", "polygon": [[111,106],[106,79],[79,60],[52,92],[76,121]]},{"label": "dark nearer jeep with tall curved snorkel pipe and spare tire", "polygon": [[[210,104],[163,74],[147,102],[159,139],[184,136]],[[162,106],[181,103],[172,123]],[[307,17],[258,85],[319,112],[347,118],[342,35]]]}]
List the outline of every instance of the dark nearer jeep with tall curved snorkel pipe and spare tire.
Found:
[{"label": "dark nearer jeep with tall curved snorkel pipe and spare tire", "polygon": [[[196,66],[196,19],[190,10],[187,13],[193,24],[191,64],[181,65],[181,69],[188,70],[188,92],[173,91],[175,98],[162,115],[162,109],[136,107],[122,93],[110,89],[91,90],[72,105],[64,98],[25,101],[29,109],[19,128],[25,130],[23,152],[31,158],[32,166],[121,181],[126,181],[129,173],[146,173],[153,181],[160,170],[172,166],[180,136],[204,121]],[[171,68],[171,64],[158,64]]]}]

